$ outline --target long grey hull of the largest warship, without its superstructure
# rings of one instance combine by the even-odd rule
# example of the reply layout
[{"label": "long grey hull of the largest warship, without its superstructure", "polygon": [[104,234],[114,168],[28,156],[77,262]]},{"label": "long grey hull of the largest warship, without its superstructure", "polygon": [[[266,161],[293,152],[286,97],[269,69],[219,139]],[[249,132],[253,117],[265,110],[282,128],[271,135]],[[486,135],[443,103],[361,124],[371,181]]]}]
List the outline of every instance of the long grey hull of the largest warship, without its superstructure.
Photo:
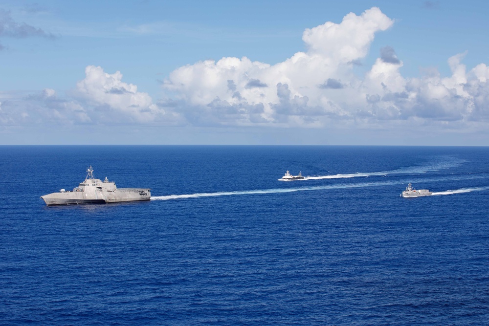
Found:
[{"label": "long grey hull of the largest warship, without its superstructure", "polygon": [[105,204],[123,201],[150,200],[151,192],[147,188],[119,188],[112,192],[64,192],[41,196],[47,206]]}]

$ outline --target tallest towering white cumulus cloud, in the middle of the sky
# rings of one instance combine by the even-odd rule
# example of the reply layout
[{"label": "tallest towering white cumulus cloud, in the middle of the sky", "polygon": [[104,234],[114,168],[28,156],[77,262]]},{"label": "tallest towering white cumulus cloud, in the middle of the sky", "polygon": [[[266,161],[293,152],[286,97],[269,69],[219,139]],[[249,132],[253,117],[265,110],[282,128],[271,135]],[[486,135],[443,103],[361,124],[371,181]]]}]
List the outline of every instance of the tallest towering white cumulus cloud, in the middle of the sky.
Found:
[{"label": "tallest towering white cumulus cloud, in the middle of the sky", "polygon": [[339,24],[306,29],[308,51],[282,63],[207,60],[173,71],[163,87],[176,94],[182,108],[192,108],[186,116],[197,124],[317,126],[321,116],[346,114],[339,102],[360,85],[352,66],[368,53],[375,33],[392,24],[376,7],[360,16],[350,13]]}]

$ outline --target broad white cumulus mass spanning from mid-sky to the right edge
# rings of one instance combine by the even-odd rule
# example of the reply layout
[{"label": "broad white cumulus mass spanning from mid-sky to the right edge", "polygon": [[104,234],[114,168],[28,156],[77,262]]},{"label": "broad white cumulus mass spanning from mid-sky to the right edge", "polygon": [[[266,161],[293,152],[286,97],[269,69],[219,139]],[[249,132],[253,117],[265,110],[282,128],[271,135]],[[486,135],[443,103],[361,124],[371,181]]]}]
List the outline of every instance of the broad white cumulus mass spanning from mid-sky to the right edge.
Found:
[{"label": "broad white cumulus mass spanning from mid-sky to the right edge", "polygon": [[365,75],[356,76],[354,66],[376,33],[393,24],[377,7],[349,13],[340,23],[306,29],[307,51],[281,63],[247,57],[201,61],[174,70],[163,89],[194,125],[320,127],[348,120],[422,124],[489,117],[489,68],[481,64],[467,72],[464,53],[448,59],[449,77],[435,72],[405,78],[402,58],[387,45]]}]

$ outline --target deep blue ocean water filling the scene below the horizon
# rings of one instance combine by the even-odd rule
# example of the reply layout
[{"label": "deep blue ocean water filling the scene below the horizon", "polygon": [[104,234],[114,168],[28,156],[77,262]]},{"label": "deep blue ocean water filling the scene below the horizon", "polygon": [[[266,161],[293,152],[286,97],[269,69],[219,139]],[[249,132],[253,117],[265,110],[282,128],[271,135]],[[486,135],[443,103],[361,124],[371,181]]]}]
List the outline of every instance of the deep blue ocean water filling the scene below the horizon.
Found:
[{"label": "deep blue ocean water filling the scene below the horizon", "polygon": [[[0,324],[488,325],[488,157],[2,146]],[[152,200],[45,206],[89,165]],[[408,182],[434,196],[401,198]]]}]

